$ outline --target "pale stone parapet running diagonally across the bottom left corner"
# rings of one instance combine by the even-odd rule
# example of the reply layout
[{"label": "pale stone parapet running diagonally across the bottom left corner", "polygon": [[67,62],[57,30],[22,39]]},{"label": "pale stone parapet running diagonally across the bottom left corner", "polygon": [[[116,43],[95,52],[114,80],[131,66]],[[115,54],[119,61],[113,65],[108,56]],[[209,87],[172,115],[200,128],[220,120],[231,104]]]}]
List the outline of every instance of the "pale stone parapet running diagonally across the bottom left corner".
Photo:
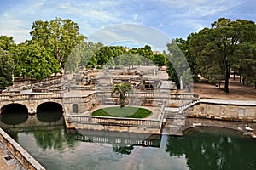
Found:
[{"label": "pale stone parapet running diagonally across the bottom left corner", "polygon": [[17,144],[14,139],[10,138],[7,133],[0,128],[0,142],[6,147],[9,152],[20,162],[22,167],[30,170],[44,170],[45,168],[38,163],[30,154],[24,150],[20,144]]}]

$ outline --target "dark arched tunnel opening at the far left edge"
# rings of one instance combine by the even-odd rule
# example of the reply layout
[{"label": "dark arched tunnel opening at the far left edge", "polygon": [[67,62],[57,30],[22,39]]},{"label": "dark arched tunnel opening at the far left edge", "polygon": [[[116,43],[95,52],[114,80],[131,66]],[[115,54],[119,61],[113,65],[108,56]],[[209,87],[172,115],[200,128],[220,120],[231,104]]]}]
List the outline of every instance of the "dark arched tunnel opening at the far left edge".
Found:
[{"label": "dark arched tunnel opening at the far left edge", "polygon": [[9,125],[18,125],[26,122],[28,118],[28,110],[25,105],[9,104],[1,108],[0,120]]}]

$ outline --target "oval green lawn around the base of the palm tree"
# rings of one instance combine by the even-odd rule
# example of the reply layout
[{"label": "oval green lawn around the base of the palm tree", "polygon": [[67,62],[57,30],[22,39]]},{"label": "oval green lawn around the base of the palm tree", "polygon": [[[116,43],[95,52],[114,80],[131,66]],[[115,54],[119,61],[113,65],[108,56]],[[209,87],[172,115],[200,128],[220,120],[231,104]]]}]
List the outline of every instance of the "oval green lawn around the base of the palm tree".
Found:
[{"label": "oval green lawn around the base of the palm tree", "polygon": [[98,109],[92,112],[92,116],[112,116],[112,117],[129,117],[129,118],[145,118],[148,117],[152,111],[139,107],[125,106],[120,107],[107,107]]}]

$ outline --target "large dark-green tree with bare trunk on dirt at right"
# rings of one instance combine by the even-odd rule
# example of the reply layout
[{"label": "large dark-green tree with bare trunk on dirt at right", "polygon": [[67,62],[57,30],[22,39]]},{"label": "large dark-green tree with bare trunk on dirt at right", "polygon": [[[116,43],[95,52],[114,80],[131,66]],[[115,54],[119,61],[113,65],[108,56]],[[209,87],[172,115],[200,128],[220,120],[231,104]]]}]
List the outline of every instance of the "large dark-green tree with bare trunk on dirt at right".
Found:
[{"label": "large dark-green tree with bare trunk on dirt at right", "polygon": [[229,93],[230,71],[239,59],[235,53],[237,46],[253,42],[256,27],[253,21],[220,18],[212,23],[211,28],[204,28],[192,34],[189,51],[196,56],[202,77],[214,75],[224,77],[224,92]]}]

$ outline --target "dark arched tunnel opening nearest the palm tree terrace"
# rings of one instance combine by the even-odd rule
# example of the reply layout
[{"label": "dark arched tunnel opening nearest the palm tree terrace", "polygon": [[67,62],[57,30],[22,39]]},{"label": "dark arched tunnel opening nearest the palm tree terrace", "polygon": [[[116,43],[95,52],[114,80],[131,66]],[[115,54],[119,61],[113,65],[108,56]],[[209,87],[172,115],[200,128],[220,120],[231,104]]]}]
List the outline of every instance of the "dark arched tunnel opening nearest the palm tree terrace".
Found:
[{"label": "dark arched tunnel opening nearest the palm tree terrace", "polygon": [[37,116],[42,122],[56,122],[62,118],[62,105],[55,102],[46,102],[38,105]]}]

